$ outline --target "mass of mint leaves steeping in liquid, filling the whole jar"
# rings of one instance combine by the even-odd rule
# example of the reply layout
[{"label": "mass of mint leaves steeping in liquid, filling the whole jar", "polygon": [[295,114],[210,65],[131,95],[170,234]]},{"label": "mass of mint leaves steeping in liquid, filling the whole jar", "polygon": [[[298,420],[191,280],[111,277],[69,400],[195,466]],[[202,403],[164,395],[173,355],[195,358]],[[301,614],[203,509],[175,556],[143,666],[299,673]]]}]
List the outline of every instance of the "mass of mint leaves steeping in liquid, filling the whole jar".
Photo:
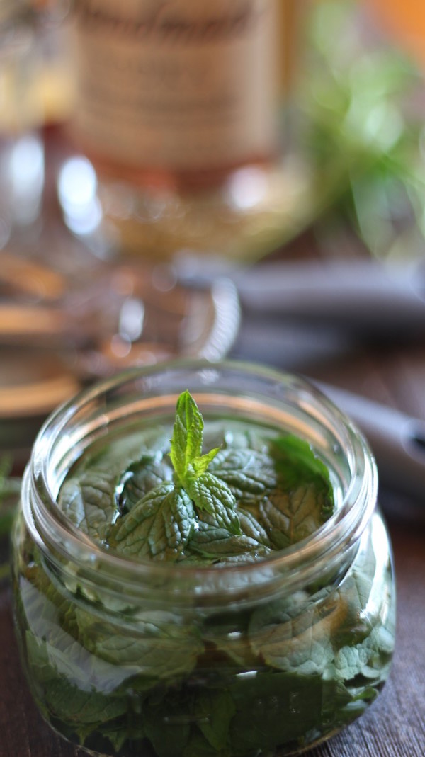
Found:
[{"label": "mass of mint leaves steeping in liquid, filling the whole jar", "polygon": [[[114,757],[282,757],[376,698],[395,602],[373,463],[341,416],[322,433],[320,400],[302,415],[302,391],[296,413],[279,400],[286,427],[270,422],[276,389],[264,417],[256,399],[197,388],[202,413],[170,391],[135,418],[108,388],[58,476],[55,538],[27,473],[17,630],[39,709],[64,737]],[[342,438],[349,475],[333,457]],[[363,499],[345,518],[353,491]]]}]

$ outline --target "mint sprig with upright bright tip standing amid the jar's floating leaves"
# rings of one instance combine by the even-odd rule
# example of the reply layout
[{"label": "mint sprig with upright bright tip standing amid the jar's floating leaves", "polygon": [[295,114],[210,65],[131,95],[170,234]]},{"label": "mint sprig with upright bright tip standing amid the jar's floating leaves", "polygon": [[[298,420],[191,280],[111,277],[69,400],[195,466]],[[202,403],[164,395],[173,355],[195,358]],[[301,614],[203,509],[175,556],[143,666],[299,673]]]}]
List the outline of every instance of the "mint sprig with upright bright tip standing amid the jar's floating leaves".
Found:
[{"label": "mint sprig with upright bright tip standing amid the jar's floating leaves", "polygon": [[204,419],[189,391],[177,400],[170,460],[173,481],[148,491],[108,532],[108,544],[127,556],[177,560],[207,513],[229,536],[241,534],[236,498],[208,472],[220,447],[202,454]]}]

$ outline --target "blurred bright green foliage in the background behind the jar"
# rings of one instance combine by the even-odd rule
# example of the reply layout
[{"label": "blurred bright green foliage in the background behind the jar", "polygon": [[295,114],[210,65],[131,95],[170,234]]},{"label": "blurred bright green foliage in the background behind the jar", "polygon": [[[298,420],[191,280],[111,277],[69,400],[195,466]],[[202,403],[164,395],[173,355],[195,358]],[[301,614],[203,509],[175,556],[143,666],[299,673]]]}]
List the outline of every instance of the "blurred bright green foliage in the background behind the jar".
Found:
[{"label": "blurred bright green foliage in the background behind the jar", "polygon": [[348,223],[377,257],[423,254],[423,76],[358,3],[314,5],[306,48],[298,90],[298,139],[313,174],[305,225],[320,233]]}]

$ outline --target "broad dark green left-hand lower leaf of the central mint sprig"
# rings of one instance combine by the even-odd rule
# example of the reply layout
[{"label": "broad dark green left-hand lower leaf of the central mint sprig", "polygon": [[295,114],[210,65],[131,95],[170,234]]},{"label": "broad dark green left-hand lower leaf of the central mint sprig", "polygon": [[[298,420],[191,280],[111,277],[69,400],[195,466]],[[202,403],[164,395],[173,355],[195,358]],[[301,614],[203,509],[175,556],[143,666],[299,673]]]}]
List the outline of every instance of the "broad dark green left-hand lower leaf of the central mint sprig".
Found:
[{"label": "broad dark green left-hand lower leaf of the central mint sprig", "polygon": [[149,491],[108,532],[108,543],[128,557],[177,559],[189,541],[195,512],[183,488],[164,483]]}]

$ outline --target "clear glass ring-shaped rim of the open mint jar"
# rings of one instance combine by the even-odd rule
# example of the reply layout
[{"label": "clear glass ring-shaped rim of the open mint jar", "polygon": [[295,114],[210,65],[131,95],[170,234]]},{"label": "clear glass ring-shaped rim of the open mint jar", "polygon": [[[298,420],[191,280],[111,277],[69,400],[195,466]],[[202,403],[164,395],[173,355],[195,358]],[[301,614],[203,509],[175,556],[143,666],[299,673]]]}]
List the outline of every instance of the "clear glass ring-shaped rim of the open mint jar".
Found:
[{"label": "clear glass ring-shaped rim of the open mint jar", "polygon": [[[270,382],[270,385],[290,386],[303,397],[308,397],[316,407],[323,410],[335,427],[343,431],[350,446],[349,450],[344,451],[352,457],[351,480],[342,503],[317,531],[296,544],[276,550],[270,556],[254,562],[193,566],[129,559],[110,553],[67,519],[49,487],[48,464],[52,446],[77,410],[89,406],[97,397],[108,397],[118,388],[140,378],[188,371],[193,375],[205,371],[230,371],[239,373],[244,378]],[[190,593],[194,586],[205,594],[214,595],[217,591],[228,590],[233,595],[241,591],[243,593],[253,585],[270,588],[270,584],[276,582],[280,584],[280,588],[285,584],[287,590],[294,590],[300,581],[305,582],[308,571],[314,576],[319,563],[335,562],[340,559],[342,551],[358,542],[377,502],[377,468],[358,428],[323,392],[302,376],[239,360],[172,360],[155,366],[127,369],[80,391],[59,406],[42,425],[34,442],[30,463],[23,478],[22,499],[27,525],[42,550],[52,550],[61,559],[77,563],[87,580],[95,582],[101,567],[112,584],[114,581],[117,581],[117,587],[119,583],[126,584],[130,592],[137,592],[138,585],[152,579],[156,579],[161,585],[167,585],[167,591],[173,595]],[[303,566],[302,571],[300,565]]]}]

